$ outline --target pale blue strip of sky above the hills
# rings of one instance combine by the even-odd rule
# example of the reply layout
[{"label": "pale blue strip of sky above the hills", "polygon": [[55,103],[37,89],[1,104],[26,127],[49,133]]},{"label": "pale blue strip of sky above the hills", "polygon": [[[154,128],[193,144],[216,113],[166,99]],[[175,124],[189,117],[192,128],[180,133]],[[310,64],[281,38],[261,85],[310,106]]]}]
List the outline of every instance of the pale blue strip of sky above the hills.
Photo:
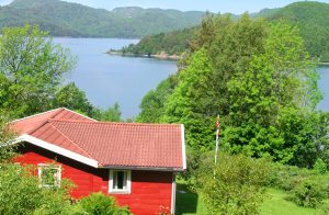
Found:
[{"label": "pale blue strip of sky above the hills", "polygon": [[[0,0],[4,5],[12,0]],[[246,11],[258,12],[264,8],[282,8],[294,0],[65,0],[98,9],[112,10],[117,7],[141,7],[177,9],[181,11],[211,11],[215,13],[241,14]],[[329,3],[329,0],[319,0]]]}]

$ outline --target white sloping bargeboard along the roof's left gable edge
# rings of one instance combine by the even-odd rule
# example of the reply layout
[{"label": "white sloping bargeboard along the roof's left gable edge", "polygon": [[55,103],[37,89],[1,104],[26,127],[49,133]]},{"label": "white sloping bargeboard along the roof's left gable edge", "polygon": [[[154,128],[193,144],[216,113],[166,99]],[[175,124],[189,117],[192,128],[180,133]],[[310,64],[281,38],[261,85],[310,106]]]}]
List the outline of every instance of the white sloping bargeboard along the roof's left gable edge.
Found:
[{"label": "white sloping bargeboard along the roof's left gable edge", "polygon": [[38,139],[36,137],[33,137],[31,135],[27,135],[27,134],[23,134],[21,136],[19,136],[13,144],[16,144],[16,143],[21,143],[21,142],[27,142],[30,144],[33,144],[35,146],[38,146],[41,148],[44,148],[44,149],[47,149],[47,150],[50,150],[53,152],[56,152],[58,155],[61,155],[61,156],[65,156],[65,157],[68,157],[68,158],[71,158],[73,160],[77,160],[79,162],[82,162],[84,165],[88,165],[88,166],[91,166],[91,167],[94,167],[94,168],[98,168],[99,167],[99,162],[94,159],[91,159],[91,158],[87,158],[84,156],[81,156],[79,154],[76,154],[76,152],[72,152],[68,149],[65,149],[65,148],[61,148],[59,146],[56,146],[54,144],[49,144],[47,142],[44,142],[42,139]]}]

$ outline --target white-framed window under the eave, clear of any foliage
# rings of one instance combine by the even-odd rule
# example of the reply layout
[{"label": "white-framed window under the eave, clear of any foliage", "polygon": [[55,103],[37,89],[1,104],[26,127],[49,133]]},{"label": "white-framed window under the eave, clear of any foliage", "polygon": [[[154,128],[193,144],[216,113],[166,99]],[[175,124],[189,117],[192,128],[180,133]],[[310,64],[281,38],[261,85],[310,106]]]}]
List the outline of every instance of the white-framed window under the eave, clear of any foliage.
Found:
[{"label": "white-framed window under the eave, clear of any foliage", "polygon": [[110,193],[131,193],[132,186],[132,171],[131,170],[110,170]]}]

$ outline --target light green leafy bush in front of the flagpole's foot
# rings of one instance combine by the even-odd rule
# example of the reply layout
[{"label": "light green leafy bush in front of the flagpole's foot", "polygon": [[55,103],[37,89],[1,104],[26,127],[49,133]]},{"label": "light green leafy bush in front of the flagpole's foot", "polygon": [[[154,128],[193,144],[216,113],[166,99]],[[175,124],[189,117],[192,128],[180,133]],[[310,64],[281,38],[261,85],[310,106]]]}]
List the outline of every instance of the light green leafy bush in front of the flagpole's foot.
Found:
[{"label": "light green leafy bush in front of the flagpole's foot", "polygon": [[205,167],[198,185],[209,214],[259,213],[269,176],[264,160],[220,155],[215,167],[211,163],[205,163]]}]

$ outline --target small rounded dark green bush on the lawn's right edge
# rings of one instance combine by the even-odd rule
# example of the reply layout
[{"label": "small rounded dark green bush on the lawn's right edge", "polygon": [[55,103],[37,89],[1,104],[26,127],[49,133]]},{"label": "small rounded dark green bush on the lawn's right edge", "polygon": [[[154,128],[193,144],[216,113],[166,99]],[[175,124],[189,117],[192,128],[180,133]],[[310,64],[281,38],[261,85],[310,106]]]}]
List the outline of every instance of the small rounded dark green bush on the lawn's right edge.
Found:
[{"label": "small rounded dark green bush on the lawn's right edge", "polygon": [[293,190],[293,201],[305,207],[321,205],[325,194],[322,189],[314,181],[305,180]]}]

